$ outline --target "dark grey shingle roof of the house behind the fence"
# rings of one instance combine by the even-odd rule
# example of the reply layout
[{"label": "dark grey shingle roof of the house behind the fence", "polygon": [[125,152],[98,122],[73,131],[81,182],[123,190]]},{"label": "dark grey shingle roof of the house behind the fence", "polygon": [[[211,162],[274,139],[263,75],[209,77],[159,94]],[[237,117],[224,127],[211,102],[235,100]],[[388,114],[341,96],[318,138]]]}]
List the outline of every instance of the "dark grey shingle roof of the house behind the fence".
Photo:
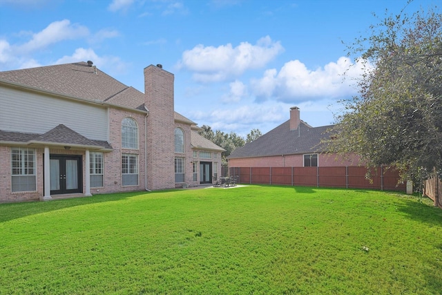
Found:
[{"label": "dark grey shingle roof of the house behind the fence", "polygon": [[331,127],[332,125],[311,127],[301,122],[299,129],[291,131],[290,120],[288,120],[257,140],[234,150],[227,158],[317,153],[323,151],[320,140],[329,136],[327,130]]}]

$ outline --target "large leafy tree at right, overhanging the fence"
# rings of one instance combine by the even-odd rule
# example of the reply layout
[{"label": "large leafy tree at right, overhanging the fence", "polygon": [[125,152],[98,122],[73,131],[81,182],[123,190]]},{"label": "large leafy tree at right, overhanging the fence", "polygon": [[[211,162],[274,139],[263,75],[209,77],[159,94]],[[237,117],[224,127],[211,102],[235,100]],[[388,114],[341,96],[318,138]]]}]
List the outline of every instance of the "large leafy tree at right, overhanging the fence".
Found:
[{"label": "large leafy tree at right, overhanging the fence", "polygon": [[350,44],[366,70],[359,95],[343,101],[329,144],[421,183],[432,171],[442,175],[442,15],[404,11]]}]

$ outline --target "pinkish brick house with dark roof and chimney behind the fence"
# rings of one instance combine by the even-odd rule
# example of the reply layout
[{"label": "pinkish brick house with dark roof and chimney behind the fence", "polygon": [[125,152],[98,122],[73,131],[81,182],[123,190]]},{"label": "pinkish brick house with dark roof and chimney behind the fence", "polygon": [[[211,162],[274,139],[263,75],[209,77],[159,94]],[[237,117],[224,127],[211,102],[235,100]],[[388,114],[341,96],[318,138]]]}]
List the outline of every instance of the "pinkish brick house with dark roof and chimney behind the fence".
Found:
[{"label": "pinkish brick house with dark roof and chimney behind the fence", "polygon": [[336,161],[336,157],[322,153],[320,142],[329,136],[327,130],[332,127],[311,127],[300,120],[300,110],[294,106],[290,108],[290,120],[233,151],[227,157],[229,167],[357,165],[357,158]]}]

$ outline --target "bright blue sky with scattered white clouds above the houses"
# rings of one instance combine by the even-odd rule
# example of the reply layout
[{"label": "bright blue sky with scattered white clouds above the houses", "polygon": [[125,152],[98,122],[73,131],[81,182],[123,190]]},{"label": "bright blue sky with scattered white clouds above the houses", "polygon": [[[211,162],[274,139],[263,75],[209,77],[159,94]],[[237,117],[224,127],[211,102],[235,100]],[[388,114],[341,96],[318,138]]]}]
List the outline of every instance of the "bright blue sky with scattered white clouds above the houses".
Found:
[{"label": "bright blue sky with scattered white clouds above the houses", "polygon": [[[199,126],[266,133],[291,106],[325,126],[362,73],[344,44],[406,2],[0,0],[0,70],[91,60],[144,92],[143,69],[162,64],[175,75],[175,111]],[[405,12],[436,4],[414,0]]]}]

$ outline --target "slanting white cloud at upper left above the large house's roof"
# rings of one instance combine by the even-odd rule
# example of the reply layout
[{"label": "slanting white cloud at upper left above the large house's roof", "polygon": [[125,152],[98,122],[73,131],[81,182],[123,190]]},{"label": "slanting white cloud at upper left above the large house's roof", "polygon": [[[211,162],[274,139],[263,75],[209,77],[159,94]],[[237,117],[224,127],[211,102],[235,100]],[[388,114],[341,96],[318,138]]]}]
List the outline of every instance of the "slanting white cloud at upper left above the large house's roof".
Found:
[{"label": "slanting white cloud at upper left above the large house's roof", "polygon": [[19,46],[19,50],[29,53],[40,48],[46,48],[50,44],[67,39],[77,39],[89,35],[89,30],[85,26],[77,24],[71,25],[68,19],[54,21],[49,26],[32,35],[32,39],[26,44]]}]

